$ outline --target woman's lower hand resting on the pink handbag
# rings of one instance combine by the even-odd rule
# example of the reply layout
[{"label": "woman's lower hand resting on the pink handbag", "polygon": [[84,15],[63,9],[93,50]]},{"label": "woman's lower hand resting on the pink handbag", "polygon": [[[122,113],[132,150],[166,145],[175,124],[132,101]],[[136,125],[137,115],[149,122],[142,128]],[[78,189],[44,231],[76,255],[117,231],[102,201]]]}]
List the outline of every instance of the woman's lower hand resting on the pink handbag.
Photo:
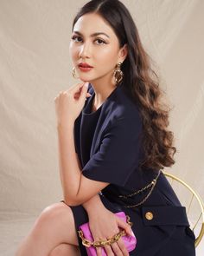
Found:
[{"label": "woman's lower hand resting on the pink handbag", "polygon": [[[93,240],[107,240],[113,235],[124,229],[125,233],[131,235],[131,226],[126,222],[119,219],[114,213],[108,209],[103,209],[100,212],[89,213],[89,226],[92,232]],[[104,246],[105,252],[108,256],[128,256],[129,253],[124,246],[124,240],[122,237],[111,246]],[[97,256],[102,255],[101,247],[97,248]]]}]

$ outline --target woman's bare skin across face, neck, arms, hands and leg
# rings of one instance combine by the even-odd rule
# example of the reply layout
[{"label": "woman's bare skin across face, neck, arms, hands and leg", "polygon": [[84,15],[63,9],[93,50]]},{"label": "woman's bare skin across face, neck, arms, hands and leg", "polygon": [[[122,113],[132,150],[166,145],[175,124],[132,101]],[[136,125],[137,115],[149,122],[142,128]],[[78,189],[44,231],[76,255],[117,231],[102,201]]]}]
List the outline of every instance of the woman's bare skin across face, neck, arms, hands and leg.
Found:
[{"label": "woman's bare skin across face, neck, arms, hands and leg", "polygon": [[[80,32],[80,35],[76,31]],[[98,32],[103,32],[107,36],[104,34],[92,36]],[[80,17],[73,28],[72,38],[70,55],[82,82],[66,91],[61,91],[54,99],[61,185],[67,205],[59,202],[46,207],[35,221],[29,235],[22,241],[16,256],[80,255],[73,213],[68,205],[82,204],[85,207],[94,240],[112,237],[118,233],[118,227],[131,234],[130,226],[107,210],[99,199],[99,191],[109,183],[92,181],[81,174],[73,139],[74,121],[80,115],[86,97],[89,96],[86,82],[92,83],[95,91],[92,107],[93,110],[97,109],[116,88],[112,74],[116,64],[124,61],[127,55],[126,46],[119,49],[118,38],[114,31],[101,16],[95,13]],[[92,71],[81,72],[77,67],[80,62],[87,62],[93,67]],[[129,255],[122,239],[112,246],[105,246],[105,251],[108,256]],[[97,255],[101,255],[100,249],[97,250]]]}]

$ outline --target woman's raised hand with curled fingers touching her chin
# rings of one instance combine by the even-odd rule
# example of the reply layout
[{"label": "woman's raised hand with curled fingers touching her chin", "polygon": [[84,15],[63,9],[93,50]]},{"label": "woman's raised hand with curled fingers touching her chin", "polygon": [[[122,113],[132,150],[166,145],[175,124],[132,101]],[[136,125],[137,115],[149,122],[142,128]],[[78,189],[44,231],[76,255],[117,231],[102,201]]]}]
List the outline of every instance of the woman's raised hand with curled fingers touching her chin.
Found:
[{"label": "woman's raised hand with curled fingers touching her chin", "polygon": [[86,97],[91,96],[87,93],[88,82],[73,85],[66,91],[61,91],[54,98],[55,110],[58,124],[67,124],[75,121],[84,107]]}]

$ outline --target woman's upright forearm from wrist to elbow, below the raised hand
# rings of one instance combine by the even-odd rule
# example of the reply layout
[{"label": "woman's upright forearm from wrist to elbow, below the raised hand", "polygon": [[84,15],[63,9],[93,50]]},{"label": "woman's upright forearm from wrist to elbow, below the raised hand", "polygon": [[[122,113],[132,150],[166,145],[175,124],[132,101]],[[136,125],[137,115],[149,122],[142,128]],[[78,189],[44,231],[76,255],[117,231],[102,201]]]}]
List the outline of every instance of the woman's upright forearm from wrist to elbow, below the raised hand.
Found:
[{"label": "woman's upright forearm from wrist to elbow, below the raised hand", "polygon": [[80,167],[75,154],[73,138],[73,122],[58,125],[59,165],[64,200],[69,202],[75,198],[80,187]]}]

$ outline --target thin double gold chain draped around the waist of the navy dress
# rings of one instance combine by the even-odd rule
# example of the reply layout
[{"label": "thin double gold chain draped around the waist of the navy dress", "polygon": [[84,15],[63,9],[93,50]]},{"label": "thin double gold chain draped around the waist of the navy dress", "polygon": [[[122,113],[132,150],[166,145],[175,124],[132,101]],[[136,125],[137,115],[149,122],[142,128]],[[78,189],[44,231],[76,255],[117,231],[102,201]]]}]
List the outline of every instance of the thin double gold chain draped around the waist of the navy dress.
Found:
[{"label": "thin double gold chain draped around the waist of the navy dress", "polygon": [[156,186],[156,181],[158,180],[158,177],[159,175],[161,174],[161,170],[159,170],[158,174],[156,175],[156,178],[154,180],[152,180],[147,186],[133,192],[132,194],[120,194],[118,195],[118,197],[120,198],[125,198],[127,199],[128,197],[131,197],[135,194],[139,194],[139,193],[142,193],[143,191],[147,190],[149,187],[150,187],[150,192],[144,197],[144,199],[142,201],[140,201],[139,203],[135,204],[135,205],[132,205],[132,206],[124,206],[125,208],[131,208],[131,207],[138,207],[138,206],[141,206],[145,200],[147,200],[149,197],[150,197],[150,194],[152,193],[154,187]]}]

